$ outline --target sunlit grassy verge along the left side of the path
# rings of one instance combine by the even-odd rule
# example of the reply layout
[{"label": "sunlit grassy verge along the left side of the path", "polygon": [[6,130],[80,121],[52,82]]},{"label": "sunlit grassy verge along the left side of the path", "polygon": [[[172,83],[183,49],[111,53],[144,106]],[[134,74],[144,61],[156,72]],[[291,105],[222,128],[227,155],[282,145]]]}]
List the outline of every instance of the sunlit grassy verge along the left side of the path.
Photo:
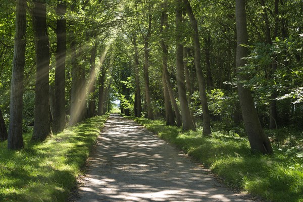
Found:
[{"label": "sunlit grassy verge along the left side of the path", "polygon": [[66,201],[108,115],[67,128],[42,143],[7,150],[0,143],[0,201]]}]

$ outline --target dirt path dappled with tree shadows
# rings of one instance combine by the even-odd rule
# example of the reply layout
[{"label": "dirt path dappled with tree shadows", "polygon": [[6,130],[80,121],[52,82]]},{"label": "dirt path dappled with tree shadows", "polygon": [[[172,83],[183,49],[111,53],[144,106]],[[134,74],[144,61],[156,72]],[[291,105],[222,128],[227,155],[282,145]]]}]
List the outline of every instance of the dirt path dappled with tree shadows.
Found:
[{"label": "dirt path dappled with tree shadows", "polygon": [[118,115],[106,122],[92,159],[78,202],[251,201],[216,182],[164,140]]}]

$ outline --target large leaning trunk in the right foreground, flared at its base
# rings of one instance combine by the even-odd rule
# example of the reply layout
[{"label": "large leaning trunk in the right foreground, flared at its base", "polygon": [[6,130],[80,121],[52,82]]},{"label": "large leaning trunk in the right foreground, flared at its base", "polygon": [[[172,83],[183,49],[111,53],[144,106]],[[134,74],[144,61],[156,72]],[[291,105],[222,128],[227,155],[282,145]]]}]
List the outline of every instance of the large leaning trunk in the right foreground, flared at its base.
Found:
[{"label": "large leaning trunk in the right foreground, flared at its base", "polygon": [[[247,79],[247,75],[240,67],[243,67],[246,63],[246,61],[242,58],[247,57],[247,47],[244,47],[241,44],[247,44],[248,42],[245,1],[243,0],[236,0],[236,27],[237,77],[239,81],[243,81]],[[245,130],[248,136],[251,150],[253,152],[261,152],[262,154],[271,154],[273,150],[270,141],[268,137],[265,136],[260,124],[250,89],[243,87],[241,82],[238,82],[238,92]]]}]

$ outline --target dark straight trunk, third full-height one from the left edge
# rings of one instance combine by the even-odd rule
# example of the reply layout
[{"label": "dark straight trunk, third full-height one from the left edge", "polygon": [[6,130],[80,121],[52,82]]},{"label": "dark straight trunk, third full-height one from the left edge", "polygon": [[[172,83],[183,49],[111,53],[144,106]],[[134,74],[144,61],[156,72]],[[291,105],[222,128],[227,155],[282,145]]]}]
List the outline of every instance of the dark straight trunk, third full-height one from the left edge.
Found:
[{"label": "dark straight trunk, third full-height one from the left edge", "polygon": [[65,58],[66,58],[66,1],[58,0],[57,4],[57,52],[55,69],[55,105],[53,131],[58,133],[66,126],[65,114]]}]

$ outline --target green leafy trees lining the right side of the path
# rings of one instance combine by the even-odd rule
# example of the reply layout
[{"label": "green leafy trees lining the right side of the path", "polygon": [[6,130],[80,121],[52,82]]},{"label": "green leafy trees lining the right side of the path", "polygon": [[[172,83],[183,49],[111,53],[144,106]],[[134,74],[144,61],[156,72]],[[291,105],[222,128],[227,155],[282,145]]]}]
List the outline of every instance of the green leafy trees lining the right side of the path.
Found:
[{"label": "green leafy trees lining the right side of the path", "polygon": [[302,125],[302,24],[293,9],[303,5],[245,3],[125,3],[118,40],[129,53],[124,64],[115,64],[131,72],[116,82],[124,89],[122,112],[164,116],[183,130],[195,130],[201,119],[204,135],[211,134],[212,119],[233,126],[243,121],[251,149],[272,153],[262,127],[289,126],[291,119]]}]

